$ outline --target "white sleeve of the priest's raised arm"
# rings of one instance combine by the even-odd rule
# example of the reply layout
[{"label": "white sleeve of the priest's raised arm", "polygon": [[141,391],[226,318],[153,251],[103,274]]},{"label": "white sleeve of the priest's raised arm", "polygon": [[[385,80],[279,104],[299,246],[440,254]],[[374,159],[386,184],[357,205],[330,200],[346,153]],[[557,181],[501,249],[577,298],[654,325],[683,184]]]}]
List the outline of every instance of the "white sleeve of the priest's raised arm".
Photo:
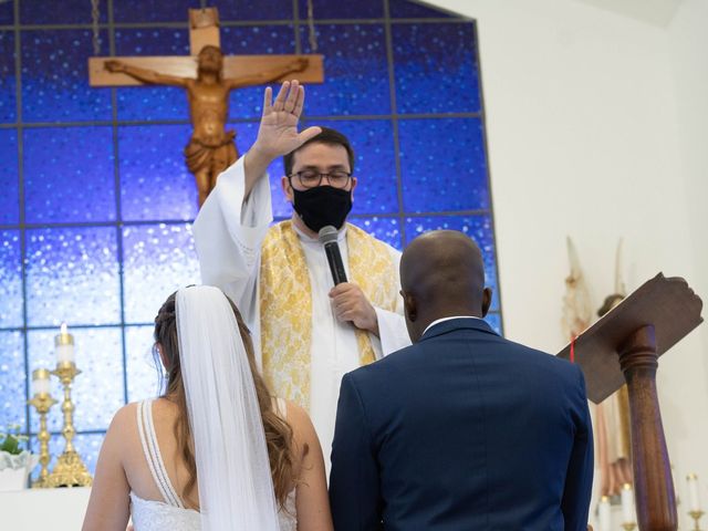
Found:
[{"label": "white sleeve of the priest's raised arm", "polygon": [[257,319],[261,243],[273,220],[270,184],[259,178],[244,201],[243,157],[217,178],[194,225],[201,281],[239,306],[249,325]]}]

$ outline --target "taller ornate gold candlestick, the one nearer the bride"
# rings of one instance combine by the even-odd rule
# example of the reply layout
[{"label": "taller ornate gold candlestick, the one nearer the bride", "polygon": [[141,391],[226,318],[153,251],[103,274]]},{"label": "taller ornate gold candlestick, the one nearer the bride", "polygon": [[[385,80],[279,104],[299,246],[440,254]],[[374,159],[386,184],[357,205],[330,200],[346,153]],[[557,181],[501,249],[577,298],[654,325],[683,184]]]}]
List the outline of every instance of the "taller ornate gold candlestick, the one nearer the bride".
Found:
[{"label": "taller ornate gold candlestick, the one nearer the bride", "polygon": [[[71,337],[70,334],[66,334]],[[61,337],[61,336],[58,336]],[[73,343],[73,340],[72,340]],[[56,466],[52,473],[50,473],[46,486],[48,487],[88,487],[93,482],[93,478],[88,473],[86,466],[81,460],[81,457],[74,449],[74,405],[71,402],[71,384],[73,379],[81,374],[81,371],[76,368],[74,362],[60,362],[56,364],[56,368],[52,371],[52,374],[58,376],[64,386],[64,402],[62,402],[62,413],[64,414],[64,427],[62,435],[66,440],[64,452],[59,456]]]}]

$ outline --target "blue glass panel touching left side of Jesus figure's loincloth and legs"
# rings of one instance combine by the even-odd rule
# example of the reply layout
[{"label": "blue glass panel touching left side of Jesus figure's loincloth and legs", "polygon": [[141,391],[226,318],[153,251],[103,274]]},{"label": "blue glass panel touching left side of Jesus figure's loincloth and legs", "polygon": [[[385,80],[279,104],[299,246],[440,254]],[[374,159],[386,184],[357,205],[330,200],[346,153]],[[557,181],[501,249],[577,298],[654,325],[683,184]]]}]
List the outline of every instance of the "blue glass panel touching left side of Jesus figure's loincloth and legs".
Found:
[{"label": "blue glass panel touching left side of Jesus figure's loincloth and legs", "polygon": [[192,219],[197,185],[187,170],[187,125],[118,128],[121,207],[124,220]]}]

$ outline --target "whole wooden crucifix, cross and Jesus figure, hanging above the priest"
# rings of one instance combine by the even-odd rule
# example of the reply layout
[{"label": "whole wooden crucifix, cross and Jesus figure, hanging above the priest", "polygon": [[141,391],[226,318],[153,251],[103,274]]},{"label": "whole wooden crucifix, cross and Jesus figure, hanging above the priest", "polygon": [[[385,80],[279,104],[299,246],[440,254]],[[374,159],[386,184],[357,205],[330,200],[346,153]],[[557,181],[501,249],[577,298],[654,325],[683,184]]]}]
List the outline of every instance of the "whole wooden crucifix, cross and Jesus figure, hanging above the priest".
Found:
[{"label": "whole wooden crucifix, cross and Jesus figure, hanging above the priest", "polygon": [[239,157],[236,132],[226,129],[229,92],[284,81],[294,74],[301,83],[322,83],[324,75],[322,55],[222,55],[216,8],[189,10],[189,53],[90,58],[88,75],[91,86],[148,84],[187,91],[194,131],[185,147],[185,160],[197,181],[201,207],[217,176]]}]

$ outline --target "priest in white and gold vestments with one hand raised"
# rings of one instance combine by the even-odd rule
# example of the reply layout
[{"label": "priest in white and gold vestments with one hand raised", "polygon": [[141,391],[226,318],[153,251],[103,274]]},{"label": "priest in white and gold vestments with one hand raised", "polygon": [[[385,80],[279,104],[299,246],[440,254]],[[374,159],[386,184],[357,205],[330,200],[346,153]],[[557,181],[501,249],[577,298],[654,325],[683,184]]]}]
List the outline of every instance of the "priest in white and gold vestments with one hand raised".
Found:
[{"label": "priest in white and gold vestments with one hand raised", "polygon": [[[298,132],[304,87],[266,88],[256,143],[217,179],[194,226],[204,283],[241,310],[263,375],[279,396],[309,409],[329,455],[342,376],[407,344],[398,294],[400,254],[347,223],[354,152],[325,127]],[[291,219],[273,221],[267,168],[284,156]],[[334,285],[317,239],[339,230],[348,282]]]}]

